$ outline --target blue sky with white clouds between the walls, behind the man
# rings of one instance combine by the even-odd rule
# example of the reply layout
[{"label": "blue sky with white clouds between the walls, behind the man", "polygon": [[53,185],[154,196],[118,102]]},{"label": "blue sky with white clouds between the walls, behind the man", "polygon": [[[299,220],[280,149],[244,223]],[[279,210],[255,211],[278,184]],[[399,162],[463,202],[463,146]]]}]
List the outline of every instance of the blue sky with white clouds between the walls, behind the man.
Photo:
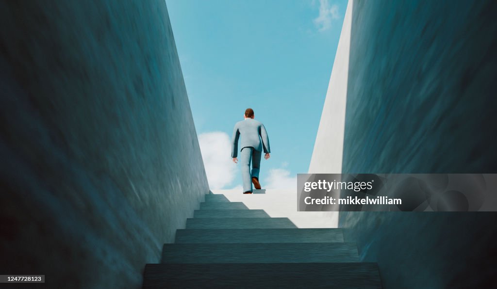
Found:
[{"label": "blue sky with white clouds between the walls, behind the man", "polygon": [[309,168],[347,1],[166,4],[211,188],[242,184],[227,142],[248,107],[271,145],[262,186],[293,187]]}]

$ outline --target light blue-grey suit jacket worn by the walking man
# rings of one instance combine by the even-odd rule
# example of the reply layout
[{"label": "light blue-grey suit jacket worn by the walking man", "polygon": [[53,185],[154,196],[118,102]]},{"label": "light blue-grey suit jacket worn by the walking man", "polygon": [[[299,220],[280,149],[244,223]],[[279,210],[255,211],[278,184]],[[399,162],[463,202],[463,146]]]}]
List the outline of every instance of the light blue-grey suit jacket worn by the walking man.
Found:
[{"label": "light blue-grey suit jacket worn by the walking man", "polygon": [[231,157],[237,157],[238,155],[238,139],[240,135],[242,135],[241,149],[251,146],[258,151],[264,150],[265,153],[271,152],[269,149],[269,138],[267,137],[264,125],[259,121],[248,118],[235,124],[233,137],[231,138]]}]

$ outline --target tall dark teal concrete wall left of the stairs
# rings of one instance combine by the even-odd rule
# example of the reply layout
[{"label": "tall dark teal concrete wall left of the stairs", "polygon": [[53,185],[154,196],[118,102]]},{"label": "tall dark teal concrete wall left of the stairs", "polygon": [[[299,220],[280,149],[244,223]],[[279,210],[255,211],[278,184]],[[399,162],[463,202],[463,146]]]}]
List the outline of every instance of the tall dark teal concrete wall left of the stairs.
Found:
[{"label": "tall dark teal concrete wall left of the stairs", "polygon": [[165,1],[0,2],[1,274],[139,288],[208,184]]}]

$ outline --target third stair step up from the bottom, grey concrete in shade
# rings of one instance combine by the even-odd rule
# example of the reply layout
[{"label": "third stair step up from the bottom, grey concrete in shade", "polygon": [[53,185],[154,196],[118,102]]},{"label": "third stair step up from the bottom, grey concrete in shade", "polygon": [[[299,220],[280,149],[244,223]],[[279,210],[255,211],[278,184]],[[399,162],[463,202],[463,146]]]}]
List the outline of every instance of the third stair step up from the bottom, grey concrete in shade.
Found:
[{"label": "third stair step up from the bottom, grey concrete in shade", "polygon": [[313,242],[343,242],[342,229],[178,229],[175,240],[175,243]]}]

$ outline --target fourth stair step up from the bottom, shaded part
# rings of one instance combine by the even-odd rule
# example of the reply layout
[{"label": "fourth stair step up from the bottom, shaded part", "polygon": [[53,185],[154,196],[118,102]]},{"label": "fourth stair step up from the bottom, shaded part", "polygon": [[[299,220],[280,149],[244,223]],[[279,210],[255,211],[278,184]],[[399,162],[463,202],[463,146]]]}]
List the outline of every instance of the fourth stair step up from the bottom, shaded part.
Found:
[{"label": "fourth stair step up from the bottom, shaded part", "polygon": [[187,229],[276,229],[297,228],[289,218],[188,218]]}]

